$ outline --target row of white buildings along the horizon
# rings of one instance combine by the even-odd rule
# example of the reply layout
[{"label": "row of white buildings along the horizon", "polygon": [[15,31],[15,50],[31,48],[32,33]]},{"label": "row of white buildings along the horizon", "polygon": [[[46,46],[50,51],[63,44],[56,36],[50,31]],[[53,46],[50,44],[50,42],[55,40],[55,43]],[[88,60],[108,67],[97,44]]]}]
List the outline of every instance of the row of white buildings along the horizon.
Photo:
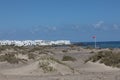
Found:
[{"label": "row of white buildings along the horizon", "polygon": [[31,45],[69,45],[69,40],[45,41],[45,40],[1,40],[0,45],[31,46]]}]

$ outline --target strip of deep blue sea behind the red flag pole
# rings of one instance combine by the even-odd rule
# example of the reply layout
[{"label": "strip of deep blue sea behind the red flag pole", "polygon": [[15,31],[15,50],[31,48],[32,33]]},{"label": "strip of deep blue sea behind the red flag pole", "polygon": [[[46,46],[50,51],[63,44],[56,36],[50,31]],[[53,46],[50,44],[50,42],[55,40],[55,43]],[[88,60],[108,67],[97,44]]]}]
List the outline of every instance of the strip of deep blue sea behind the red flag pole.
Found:
[{"label": "strip of deep blue sea behind the red flag pole", "polygon": [[[72,42],[72,44],[82,47],[95,47],[95,42]],[[120,48],[120,41],[96,42],[97,48]]]}]

